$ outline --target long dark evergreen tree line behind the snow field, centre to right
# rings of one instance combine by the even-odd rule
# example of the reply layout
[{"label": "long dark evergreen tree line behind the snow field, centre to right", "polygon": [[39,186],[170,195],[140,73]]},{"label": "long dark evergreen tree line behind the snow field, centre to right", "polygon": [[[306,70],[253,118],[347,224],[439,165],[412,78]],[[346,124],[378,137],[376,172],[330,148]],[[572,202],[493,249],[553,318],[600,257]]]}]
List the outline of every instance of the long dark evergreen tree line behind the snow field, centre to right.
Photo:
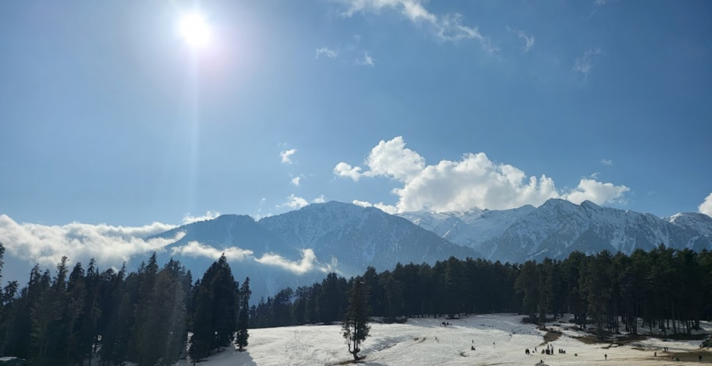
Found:
[{"label": "long dark evergreen tree line behind the snow field, centre to right", "polygon": [[[572,252],[564,260],[523,264],[451,257],[433,266],[397,264],[380,273],[369,267],[357,279],[369,291],[368,315],[386,321],[521,313],[542,323],[548,314],[570,313],[581,328],[604,337],[622,328],[637,334],[639,321],[665,335],[690,334],[712,316],[712,252],[706,249]],[[332,273],[312,286],[262,298],[251,308],[251,326],[341,321],[354,281]]]}]

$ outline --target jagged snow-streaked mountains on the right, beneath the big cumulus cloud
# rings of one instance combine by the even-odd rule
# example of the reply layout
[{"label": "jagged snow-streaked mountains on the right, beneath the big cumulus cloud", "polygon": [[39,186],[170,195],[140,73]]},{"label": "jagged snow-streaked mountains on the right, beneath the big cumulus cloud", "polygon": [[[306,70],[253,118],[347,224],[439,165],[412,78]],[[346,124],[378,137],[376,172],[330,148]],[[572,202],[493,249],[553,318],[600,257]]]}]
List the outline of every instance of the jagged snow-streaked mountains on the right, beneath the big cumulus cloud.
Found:
[{"label": "jagged snow-streaked mountains on the right, beneath the big cumulus cloud", "polygon": [[585,201],[551,199],[538,208],[405,212],[399,214],[451,242],[473,247],[484,257],[523,262],[562,258],[574,250],[608,249],[630,254],[664,243],[677,249],[712,249],[712,217],[696,212],[656,217]]}]

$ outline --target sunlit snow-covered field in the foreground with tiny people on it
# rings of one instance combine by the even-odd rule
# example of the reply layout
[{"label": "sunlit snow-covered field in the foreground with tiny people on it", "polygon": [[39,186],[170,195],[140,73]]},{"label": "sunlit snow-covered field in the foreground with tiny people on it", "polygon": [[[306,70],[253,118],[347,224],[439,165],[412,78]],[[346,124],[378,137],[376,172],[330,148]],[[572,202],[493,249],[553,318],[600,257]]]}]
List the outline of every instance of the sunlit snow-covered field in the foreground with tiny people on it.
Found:
[{"label": "sunlit snow-covered field in the foreground with tiny people on it", "polygon": [[[575,337],[583,335],[567,330],[551,344],[566,354],[525,355],[525,349],[537,347],[540,352],[545,332],[534,325],[522,324],[521,316],[493,314],[470,316],[440,326],[439,319],[410,319],[405,324],[372,324],[365,343],[362,365],[431,366],[431,365],[699,365],[712,363],[712,353],[700,350],[701,341],[664,341],[658,338],[639,340],[627,345],[587,344]],[[566,324],[555,328],[567,328]],[[704,327],[711,330],[712,325]],[[675,362],[662,352],[667,346],[673,355],[683,355],[693,362]],[[471,347],[476,350],[471,350]],[[200,362],[201,366],[287,366],[340,365],[353,360],[347,352],[339,325],[304,325],[250,330],[246,352],[226,350]],[[658,357],[653,357],[654,352]],[[690,354],[689,352],[693,352]],[[699,353],[703,352],[703,353]],[[575,355],[577,354],[577,355]],[[608,360],[604,360],[608,355]]]}]

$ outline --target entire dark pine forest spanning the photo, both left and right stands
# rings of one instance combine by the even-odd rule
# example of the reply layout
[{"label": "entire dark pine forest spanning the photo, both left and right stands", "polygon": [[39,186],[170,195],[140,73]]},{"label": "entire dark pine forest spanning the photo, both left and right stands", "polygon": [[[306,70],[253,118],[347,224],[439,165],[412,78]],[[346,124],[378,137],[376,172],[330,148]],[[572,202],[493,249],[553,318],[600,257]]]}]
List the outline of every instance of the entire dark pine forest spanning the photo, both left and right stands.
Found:
[{"label": "entire dark pine forest spanning the photo, both left and right stands", "polygon": [[[0,244],[0,259],[3,251]],[[712,316],[712,252],[661,245],[630,256],[574,252],[523,264],[451,257],[433,266],[370,267],[350,279],[332,273],[253,306],[250,295],[249,278],[235,281],[224,256],[195,282],[174,259],[159,267],[156,254],[135,272],[100,271],[94,261],[69,268],[65,257],[53,272],[35,266],[24,286],[4,286],[0,356],[31,365],[172,365],[231,345],[242,350],[248,328],[348,318],[355,319],[345,331],[356,357],[366,312],[384,321],[522,313],[533,323],[570,313],[600,337],[637,334],[639,320],[646,330],[685,337]]]}]

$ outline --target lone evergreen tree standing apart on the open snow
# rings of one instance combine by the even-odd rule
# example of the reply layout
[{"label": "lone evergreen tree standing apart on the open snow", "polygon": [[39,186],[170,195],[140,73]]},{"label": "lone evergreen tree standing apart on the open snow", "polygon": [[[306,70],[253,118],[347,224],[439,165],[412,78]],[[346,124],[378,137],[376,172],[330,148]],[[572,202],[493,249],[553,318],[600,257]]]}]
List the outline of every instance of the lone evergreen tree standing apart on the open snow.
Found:
[{"label": "lone evergreen tree standing apart on the open snow", "polygon": [[368,337],[371,327],[368,325],[368,287],[361,277],[356,277],[349,291],[349,307],[344,316],[344,338],[349,346],[349,353],[354,355],[354,360],[359,360],[358,352],[361,343]]}]

